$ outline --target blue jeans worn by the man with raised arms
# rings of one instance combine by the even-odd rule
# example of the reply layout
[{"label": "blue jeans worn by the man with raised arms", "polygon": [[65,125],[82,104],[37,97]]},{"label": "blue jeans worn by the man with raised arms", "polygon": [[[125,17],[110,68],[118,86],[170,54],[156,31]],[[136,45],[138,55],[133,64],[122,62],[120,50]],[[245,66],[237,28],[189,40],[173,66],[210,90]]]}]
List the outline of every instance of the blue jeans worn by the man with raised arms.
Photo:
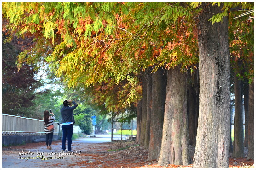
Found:
[{"label": "blue jeans worn by the man with raised arms", "polygon": [[67,150],[71,151],[73,135],[73,124],[71,125],[62,125],[62,150],[66,150],[66,138],[67,138]]}]

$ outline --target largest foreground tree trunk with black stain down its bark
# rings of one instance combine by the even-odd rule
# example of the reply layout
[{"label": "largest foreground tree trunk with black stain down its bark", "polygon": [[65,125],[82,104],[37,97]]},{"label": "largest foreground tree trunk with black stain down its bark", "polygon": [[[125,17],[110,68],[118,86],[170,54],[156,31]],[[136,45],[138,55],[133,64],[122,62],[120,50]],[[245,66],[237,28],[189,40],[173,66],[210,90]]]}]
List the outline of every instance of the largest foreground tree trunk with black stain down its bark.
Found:
[{"label": "largest foreground tree trunk with black stain down its bark", "polygon": [[228,17],[208,21],[221,13],[218,5],[202,3],[198,21],[200,108],[194,168],[229,167],[230,57]]}]

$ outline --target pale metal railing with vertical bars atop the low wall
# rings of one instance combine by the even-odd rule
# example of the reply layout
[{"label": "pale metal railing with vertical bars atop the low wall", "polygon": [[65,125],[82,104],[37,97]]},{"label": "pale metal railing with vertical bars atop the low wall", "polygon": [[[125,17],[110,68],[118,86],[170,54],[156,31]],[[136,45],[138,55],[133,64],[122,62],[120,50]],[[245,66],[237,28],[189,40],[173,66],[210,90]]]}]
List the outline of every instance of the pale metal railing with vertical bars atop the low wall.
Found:
[{"label": "pale metal railing with vertical bars atop the low wall", "polygon": [[[58,122],[54,122],[54,135],[60,132]],[[2,114],[2,135],[45,135],[43,120]]]}]

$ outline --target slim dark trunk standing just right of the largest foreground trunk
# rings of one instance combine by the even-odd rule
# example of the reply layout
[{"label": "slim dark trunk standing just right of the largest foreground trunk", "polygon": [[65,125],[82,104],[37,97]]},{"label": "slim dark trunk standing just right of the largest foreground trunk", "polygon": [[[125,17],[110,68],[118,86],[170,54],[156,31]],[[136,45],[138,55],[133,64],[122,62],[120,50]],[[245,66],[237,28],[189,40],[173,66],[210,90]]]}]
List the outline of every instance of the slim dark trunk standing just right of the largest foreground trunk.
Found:
[{"label": "slim dark trunk standing just right of the largest foreground trunk", "polygon": [[242,112],[241,80],[234,75],[235,89],[235,119],[234,119],[234,149],[232,157],[244,157],[244,128]]}]

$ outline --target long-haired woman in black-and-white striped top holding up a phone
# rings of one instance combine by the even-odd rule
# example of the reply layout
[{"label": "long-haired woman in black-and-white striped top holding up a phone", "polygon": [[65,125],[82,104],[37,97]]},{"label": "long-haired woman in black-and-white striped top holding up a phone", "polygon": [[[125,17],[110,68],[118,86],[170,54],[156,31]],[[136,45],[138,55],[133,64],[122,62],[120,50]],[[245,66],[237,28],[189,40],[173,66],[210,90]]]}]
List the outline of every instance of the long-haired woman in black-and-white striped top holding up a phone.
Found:
[{"label": "long-haired woman in black-and-white striped top holding up a phone", "polygon": [[55,115],[51,112],[52,116],[49,114],[47,110],[44,111],[44,133],[45,133],[45,143],[46,149],[52,149],[52,137],[54,130],[50,131],[47,129],[50,125],[53,125],[53,121],[55,120]]}]

